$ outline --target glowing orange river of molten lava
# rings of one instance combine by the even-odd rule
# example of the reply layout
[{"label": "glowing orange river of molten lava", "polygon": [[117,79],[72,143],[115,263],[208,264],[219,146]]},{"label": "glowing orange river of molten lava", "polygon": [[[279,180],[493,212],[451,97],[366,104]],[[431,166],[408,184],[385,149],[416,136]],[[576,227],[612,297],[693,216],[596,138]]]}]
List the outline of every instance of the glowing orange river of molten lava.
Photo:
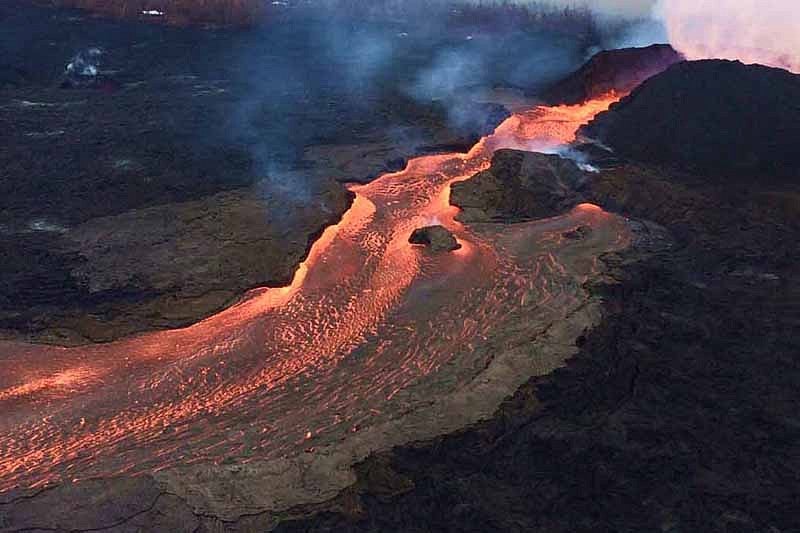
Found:
[{"label": "glowing orange river of molten lava", "polygon": [[[353,187],[352,208],[290,286],[192,327],[78,348],[0,343],[0,491],[294,454],[457,390],[504,348],[513,317],[564,320],[596,257],[624,246],[627,230],[594,206],[467,228],[450,184],[499,148],[570,142],[616,99],[516,114],[468,154],[414,159]],[[461,250],[408,244],[434,221]],[[577,225],[595,231],[561,238]]]}]

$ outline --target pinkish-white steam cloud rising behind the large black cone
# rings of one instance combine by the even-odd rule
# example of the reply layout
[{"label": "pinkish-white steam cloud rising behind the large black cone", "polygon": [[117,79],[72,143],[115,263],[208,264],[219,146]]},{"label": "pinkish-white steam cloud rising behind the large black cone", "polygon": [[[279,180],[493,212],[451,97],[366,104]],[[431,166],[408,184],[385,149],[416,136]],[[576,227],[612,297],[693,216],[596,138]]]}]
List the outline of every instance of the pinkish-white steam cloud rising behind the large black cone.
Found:
[{"label": "pinkish-white steam cloud rising behind the large black cone", "polygon": [[661,0],[656,14],[689,59],[739,59],[800,72],[798,0]]}]

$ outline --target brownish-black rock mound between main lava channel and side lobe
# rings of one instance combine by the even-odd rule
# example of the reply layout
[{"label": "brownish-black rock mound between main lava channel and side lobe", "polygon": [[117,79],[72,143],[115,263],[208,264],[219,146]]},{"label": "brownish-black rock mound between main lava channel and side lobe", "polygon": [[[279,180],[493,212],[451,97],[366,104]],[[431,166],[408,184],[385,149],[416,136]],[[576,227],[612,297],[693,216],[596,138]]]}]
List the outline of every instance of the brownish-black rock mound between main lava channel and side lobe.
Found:
[{"label": "brownish-black rock mound between main lava channel and side lobe", "polygon": [[551,217],[580,202],[586,176],[557,155],[498,150],[492,166],[453,184],[450,201],[464,222],[520,221]]}]

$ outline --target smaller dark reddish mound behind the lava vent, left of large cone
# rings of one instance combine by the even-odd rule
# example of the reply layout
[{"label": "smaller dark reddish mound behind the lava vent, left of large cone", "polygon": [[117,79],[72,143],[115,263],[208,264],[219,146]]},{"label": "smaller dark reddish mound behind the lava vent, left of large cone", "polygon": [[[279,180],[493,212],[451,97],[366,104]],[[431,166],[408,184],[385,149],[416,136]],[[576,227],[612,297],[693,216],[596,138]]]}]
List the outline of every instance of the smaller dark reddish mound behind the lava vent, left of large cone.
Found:
[{"label": "smaller dark reddish mound behind the lava vent, left of large cone", "polygon": [[550,86],[541,96],[545,102],[558,105],[579,104],[611,91],[628,92],[683,60],[684,57],[668,44],[604,50],[579,70]]}]

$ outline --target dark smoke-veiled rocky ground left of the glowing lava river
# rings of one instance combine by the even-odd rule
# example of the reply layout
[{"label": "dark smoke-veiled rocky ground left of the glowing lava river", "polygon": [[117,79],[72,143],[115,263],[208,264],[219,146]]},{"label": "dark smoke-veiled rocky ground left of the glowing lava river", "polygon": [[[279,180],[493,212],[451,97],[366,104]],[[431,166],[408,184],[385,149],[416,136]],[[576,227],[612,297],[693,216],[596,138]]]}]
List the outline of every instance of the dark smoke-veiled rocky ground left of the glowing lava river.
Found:
[{"label": "dark smoke-veiled rocky ground left of the glowing lava river", "polygon": [[[460,34],[292,16],[199,31],[0,5],[0,336],[107,341],[283,285],[349,205],[340,182],[466,150],[508,116],[402,90]],[[403,68],[370,81],[378,45]]]}]

